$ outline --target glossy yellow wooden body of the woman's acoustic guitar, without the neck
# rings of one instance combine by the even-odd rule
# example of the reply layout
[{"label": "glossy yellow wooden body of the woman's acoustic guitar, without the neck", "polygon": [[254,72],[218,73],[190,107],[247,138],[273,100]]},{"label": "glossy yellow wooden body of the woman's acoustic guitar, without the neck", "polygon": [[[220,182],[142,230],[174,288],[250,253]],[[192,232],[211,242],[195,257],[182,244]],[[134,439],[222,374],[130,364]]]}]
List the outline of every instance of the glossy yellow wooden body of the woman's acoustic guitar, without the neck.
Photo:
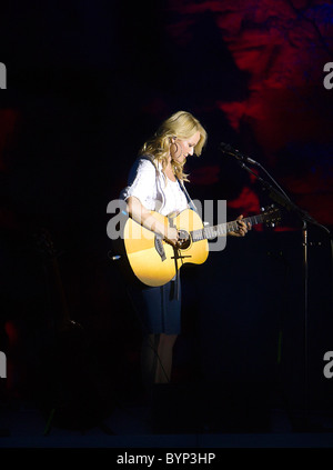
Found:
[{"label": "glossy yellow wooden body of the woman's acoustic guitar, without the neck", "polygon": [[138,280],[147,286],[158,287],[169,282],[184,263],[203,263],[209,254],[208,240],[192,242],[190,231],[203,228],[201,218],[191,209],[175,217],[152,212],[165,226],[175,227],[186,238],[175,249],[133,219],[128,218],[123,230],[127,261]]}]

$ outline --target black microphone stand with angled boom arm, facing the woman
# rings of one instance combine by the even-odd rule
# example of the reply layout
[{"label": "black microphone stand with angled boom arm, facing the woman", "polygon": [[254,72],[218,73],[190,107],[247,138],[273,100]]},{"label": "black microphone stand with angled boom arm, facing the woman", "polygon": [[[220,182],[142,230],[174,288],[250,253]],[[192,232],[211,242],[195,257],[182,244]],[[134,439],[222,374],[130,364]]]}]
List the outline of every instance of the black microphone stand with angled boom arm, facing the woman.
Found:
[{"label": "black microphone stand with angled boom arm, facing the woman", "polygon": [[[299,208],[283,191],[283,189],[276,183],[276,181],[270,176],[270,173],[255,160],[251,159],[250,157],[243,156],[239,150],[232,149],[229,144],[221,144],[222,151],[231,154],[236,158],[241,168],[246,170],[249,173],[253,174],[263,186],[265,190],[269,192],[269,197],[275,201],[279,206],[283,207],[287,211],[294,212],[302,221],[302,233],[303,233],[303,272],[304,272],[304,382],[305,382],[305,413],[306,413],[306,423],[309,422],[309,223],[316,226],[324,231],[326,231],[330,236],[330,230],[319,223],[315,219],[313,219],[307,212]],[[225,149],[225,150],[223,150]],[[259,167],[263,170],[270,179],[274,182],[274,184],[279,188],[274,188],[263,178],[261,178],[256,172],[251,170],[245,162],[249,162],[255,167]],[[331,251],[333,253],[333,244],[331,240]]]}]

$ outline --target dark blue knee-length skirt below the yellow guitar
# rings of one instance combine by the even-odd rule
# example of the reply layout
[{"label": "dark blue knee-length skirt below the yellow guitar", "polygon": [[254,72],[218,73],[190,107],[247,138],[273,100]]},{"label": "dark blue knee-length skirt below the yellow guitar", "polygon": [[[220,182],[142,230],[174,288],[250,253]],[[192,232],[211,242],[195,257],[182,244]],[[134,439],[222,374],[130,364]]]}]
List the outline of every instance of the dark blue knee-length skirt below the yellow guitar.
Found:
[{"label": "dark blue knee-length skirt below the yellow guitar", "polygon": [[129,288],[143,333],[179,334],[181,332],[180,279],[161,287]]}]

